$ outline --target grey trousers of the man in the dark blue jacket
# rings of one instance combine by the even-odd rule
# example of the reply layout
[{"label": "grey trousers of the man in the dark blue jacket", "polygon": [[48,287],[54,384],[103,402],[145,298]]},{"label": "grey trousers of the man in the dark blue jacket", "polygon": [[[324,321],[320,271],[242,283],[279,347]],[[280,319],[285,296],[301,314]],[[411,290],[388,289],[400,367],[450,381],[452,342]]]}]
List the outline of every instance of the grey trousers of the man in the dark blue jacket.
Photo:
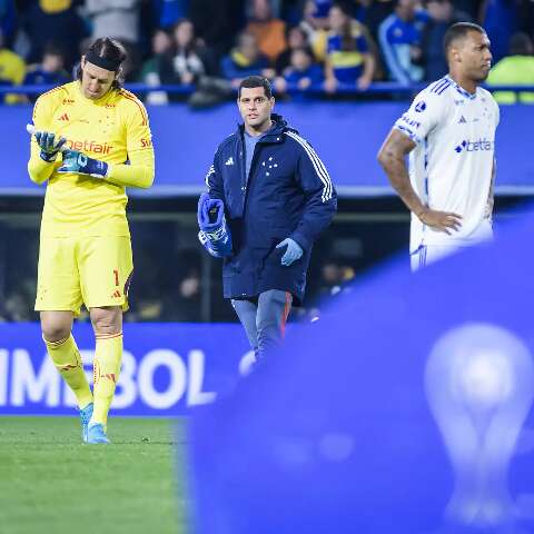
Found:
[{"label": "grey trousers of the man in the dark blue jacket", "polygon": [[256,360],[261,359],[267,350],[281,343],[293,295],[280,289],[260,293],[255,299],[231,299]]}]

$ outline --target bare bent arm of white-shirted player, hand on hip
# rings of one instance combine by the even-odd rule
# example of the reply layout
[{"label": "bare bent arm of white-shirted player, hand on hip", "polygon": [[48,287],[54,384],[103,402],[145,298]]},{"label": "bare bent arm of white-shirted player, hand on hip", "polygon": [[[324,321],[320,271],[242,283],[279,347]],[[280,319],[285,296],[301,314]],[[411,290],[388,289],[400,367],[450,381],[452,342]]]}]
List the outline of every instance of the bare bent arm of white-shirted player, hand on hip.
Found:
[{"label": "bare bent arm of white-shirted player, hand on hip", "polygon": [[415,141],[394,128],[378,151],[378,161],[406,207],[422,222],[445,234],[458,230],[462,226],[462,217],[459,215],[428,208],[422,202],[412,187],[405,158],[415,147]]}]

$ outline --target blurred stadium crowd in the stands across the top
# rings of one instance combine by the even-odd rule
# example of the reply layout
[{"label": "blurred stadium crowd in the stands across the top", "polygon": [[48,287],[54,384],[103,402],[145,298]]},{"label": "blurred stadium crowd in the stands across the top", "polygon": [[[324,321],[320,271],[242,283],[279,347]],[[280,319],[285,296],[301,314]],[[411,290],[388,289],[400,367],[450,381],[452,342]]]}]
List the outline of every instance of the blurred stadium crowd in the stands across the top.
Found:
[{"label": "blurred stadium crowd in the stands across the top", "polygon": [[148,103],[209,106],[250,75],[271,79],[278,95],[362,93],[375,81],[444,76],[442,40],[457,21],[487,30],[490,83],[534,83],[531,0],[0,0],[0,83],[63,83],[88,43],[107,36],[128,49],[127,82],[184,89],[151,91]]}]

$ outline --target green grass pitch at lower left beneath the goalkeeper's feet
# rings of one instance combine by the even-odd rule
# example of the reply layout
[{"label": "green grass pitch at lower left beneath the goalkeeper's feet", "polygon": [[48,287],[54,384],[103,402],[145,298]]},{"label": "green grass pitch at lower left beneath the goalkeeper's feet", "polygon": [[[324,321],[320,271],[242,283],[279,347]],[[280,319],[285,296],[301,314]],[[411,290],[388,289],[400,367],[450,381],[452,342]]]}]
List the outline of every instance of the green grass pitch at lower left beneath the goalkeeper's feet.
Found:
[{"label": "green grass pitch at lower left beneath the goalkeeper's feet", "polygon": [[0,417],[1,534],[186,534],[186,421],[112,417],[82,445],[73,417]]}]

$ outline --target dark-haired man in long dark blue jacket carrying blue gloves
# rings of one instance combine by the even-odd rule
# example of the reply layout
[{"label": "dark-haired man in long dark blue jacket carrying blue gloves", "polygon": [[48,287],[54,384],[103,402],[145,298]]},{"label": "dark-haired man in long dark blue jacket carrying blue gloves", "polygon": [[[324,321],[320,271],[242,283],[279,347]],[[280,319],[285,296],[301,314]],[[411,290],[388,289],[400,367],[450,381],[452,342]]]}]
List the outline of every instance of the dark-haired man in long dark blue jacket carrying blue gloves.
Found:
[{"label": "dark-haired man in long dark blue jacket carrying blue gloves", "polygon": [[[259,359],[280,342],[291,304],[303,300],[313,244],[337,200],[315,150],[273,113],[266,78],[246,78],[237,103],[244,125],[217,149],[199,224],[208,251],[224,256],[225,298]],[[225,217],[217,218],[217,209]]]}]

